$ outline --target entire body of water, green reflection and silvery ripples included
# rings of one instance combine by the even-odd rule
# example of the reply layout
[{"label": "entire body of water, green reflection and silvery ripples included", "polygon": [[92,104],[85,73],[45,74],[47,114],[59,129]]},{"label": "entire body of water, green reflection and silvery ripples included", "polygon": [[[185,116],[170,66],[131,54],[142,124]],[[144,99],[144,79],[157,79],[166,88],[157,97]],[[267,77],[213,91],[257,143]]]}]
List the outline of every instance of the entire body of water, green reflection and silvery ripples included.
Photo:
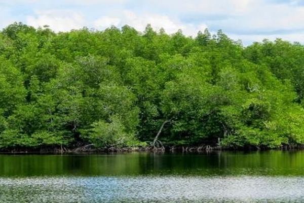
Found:
[{"label": "entire body of water, green reflection and silvery ripples included", "polygon": [[0,155],[0,202],[304,202],[304,151]]}]

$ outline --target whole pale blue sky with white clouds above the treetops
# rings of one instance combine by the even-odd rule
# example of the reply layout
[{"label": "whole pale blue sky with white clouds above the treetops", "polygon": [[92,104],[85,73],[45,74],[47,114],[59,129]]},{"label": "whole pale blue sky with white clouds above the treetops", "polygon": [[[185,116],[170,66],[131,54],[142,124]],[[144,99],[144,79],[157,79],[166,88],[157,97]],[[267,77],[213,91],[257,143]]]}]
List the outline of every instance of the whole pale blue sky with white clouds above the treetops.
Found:
[{"label": "whole pale blue sky with white clouds above the treetops", "polygon": [[54,31],[149,23],[196,36],[222,29],[244,45],[282,38],[304,44],[304,0],[0,0],[0,28],[13,22]]}]

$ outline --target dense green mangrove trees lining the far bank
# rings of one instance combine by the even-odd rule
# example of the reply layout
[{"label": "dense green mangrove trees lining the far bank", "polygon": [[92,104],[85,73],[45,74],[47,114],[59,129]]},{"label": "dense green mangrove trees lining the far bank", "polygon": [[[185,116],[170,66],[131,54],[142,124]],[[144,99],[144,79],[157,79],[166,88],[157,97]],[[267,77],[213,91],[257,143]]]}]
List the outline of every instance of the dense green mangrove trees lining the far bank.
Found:
[{"label": "dense green mangrove trees lining the far bank", "polygon": [[[304,144],[304,46],[147,26],[0,32],[0,148]],[[159,132],[159,133],[158,133]],[[155,142],[156,145],[160,144]]]}]

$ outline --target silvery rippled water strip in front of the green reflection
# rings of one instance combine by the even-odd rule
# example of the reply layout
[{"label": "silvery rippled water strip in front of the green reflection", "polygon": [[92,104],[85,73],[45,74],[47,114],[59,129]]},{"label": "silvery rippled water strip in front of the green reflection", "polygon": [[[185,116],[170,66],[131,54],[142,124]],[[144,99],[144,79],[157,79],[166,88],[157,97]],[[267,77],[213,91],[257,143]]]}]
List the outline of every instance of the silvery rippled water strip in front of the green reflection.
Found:
[{"label": "silvery rippled water strip in front of the green reflection", "polygon": [[304,177],[0,178],[0,202],[304,202]]}]

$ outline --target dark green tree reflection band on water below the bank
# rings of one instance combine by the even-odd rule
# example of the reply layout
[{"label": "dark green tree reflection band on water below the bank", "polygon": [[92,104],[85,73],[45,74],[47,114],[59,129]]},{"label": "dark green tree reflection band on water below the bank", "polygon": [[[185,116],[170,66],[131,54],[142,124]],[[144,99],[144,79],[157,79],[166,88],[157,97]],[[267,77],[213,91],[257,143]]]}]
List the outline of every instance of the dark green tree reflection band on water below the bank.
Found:
[{"label": "dark green tree reflection band on water below the bank", "polygon": [[1,177],[137,175],[304,176],[304,151],[0,155]]}]

